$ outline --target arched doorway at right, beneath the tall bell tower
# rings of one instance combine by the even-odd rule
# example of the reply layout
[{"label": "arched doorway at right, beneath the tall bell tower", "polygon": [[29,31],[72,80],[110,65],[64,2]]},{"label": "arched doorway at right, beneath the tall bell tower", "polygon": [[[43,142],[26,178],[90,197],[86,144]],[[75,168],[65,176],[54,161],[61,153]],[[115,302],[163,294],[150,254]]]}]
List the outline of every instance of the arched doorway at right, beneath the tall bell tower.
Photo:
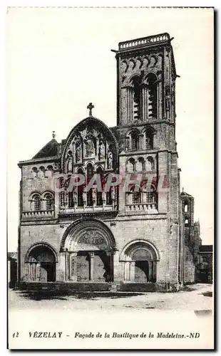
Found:
[{"label": "arched doorway at right, beneath the tall bell tower", "polygon": [[155,283],[159,259],[157,248],[149,241],[130,241],[120,255],[120,261],[124,263],[124,281]]}]

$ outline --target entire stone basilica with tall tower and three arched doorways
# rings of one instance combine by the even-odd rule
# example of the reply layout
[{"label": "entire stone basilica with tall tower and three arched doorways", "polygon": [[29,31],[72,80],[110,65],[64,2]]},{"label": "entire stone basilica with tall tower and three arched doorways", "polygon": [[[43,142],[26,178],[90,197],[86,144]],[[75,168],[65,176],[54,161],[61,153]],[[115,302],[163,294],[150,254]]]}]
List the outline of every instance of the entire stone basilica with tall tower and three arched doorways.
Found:
[{"label": "entire stone basilica with tall tower and three arched doorways", "polygon": [[[115,127],[94,117],[90,103],[88,117],[65,140],[58,143],[53,133],[32,159],[19,162],[20,285],[178,290],[195,281],[200,228],[193,197],[180,194],[171,41],[163,33],[113,51]],[[93,177],[100,189],[87,188]]]}]

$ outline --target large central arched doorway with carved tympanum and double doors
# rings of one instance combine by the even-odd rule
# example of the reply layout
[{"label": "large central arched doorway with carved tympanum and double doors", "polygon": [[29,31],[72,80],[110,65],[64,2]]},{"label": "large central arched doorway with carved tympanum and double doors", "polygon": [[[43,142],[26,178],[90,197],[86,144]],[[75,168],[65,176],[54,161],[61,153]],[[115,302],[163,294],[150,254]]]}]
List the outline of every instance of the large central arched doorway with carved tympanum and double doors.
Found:
[{"label": "large central arched doorway with carved tympanum and double doors", "polygon": [[115,239],[98,219],[76,221],[61,241],[66,255],[66,280],[73,282],[113,281]]}]

